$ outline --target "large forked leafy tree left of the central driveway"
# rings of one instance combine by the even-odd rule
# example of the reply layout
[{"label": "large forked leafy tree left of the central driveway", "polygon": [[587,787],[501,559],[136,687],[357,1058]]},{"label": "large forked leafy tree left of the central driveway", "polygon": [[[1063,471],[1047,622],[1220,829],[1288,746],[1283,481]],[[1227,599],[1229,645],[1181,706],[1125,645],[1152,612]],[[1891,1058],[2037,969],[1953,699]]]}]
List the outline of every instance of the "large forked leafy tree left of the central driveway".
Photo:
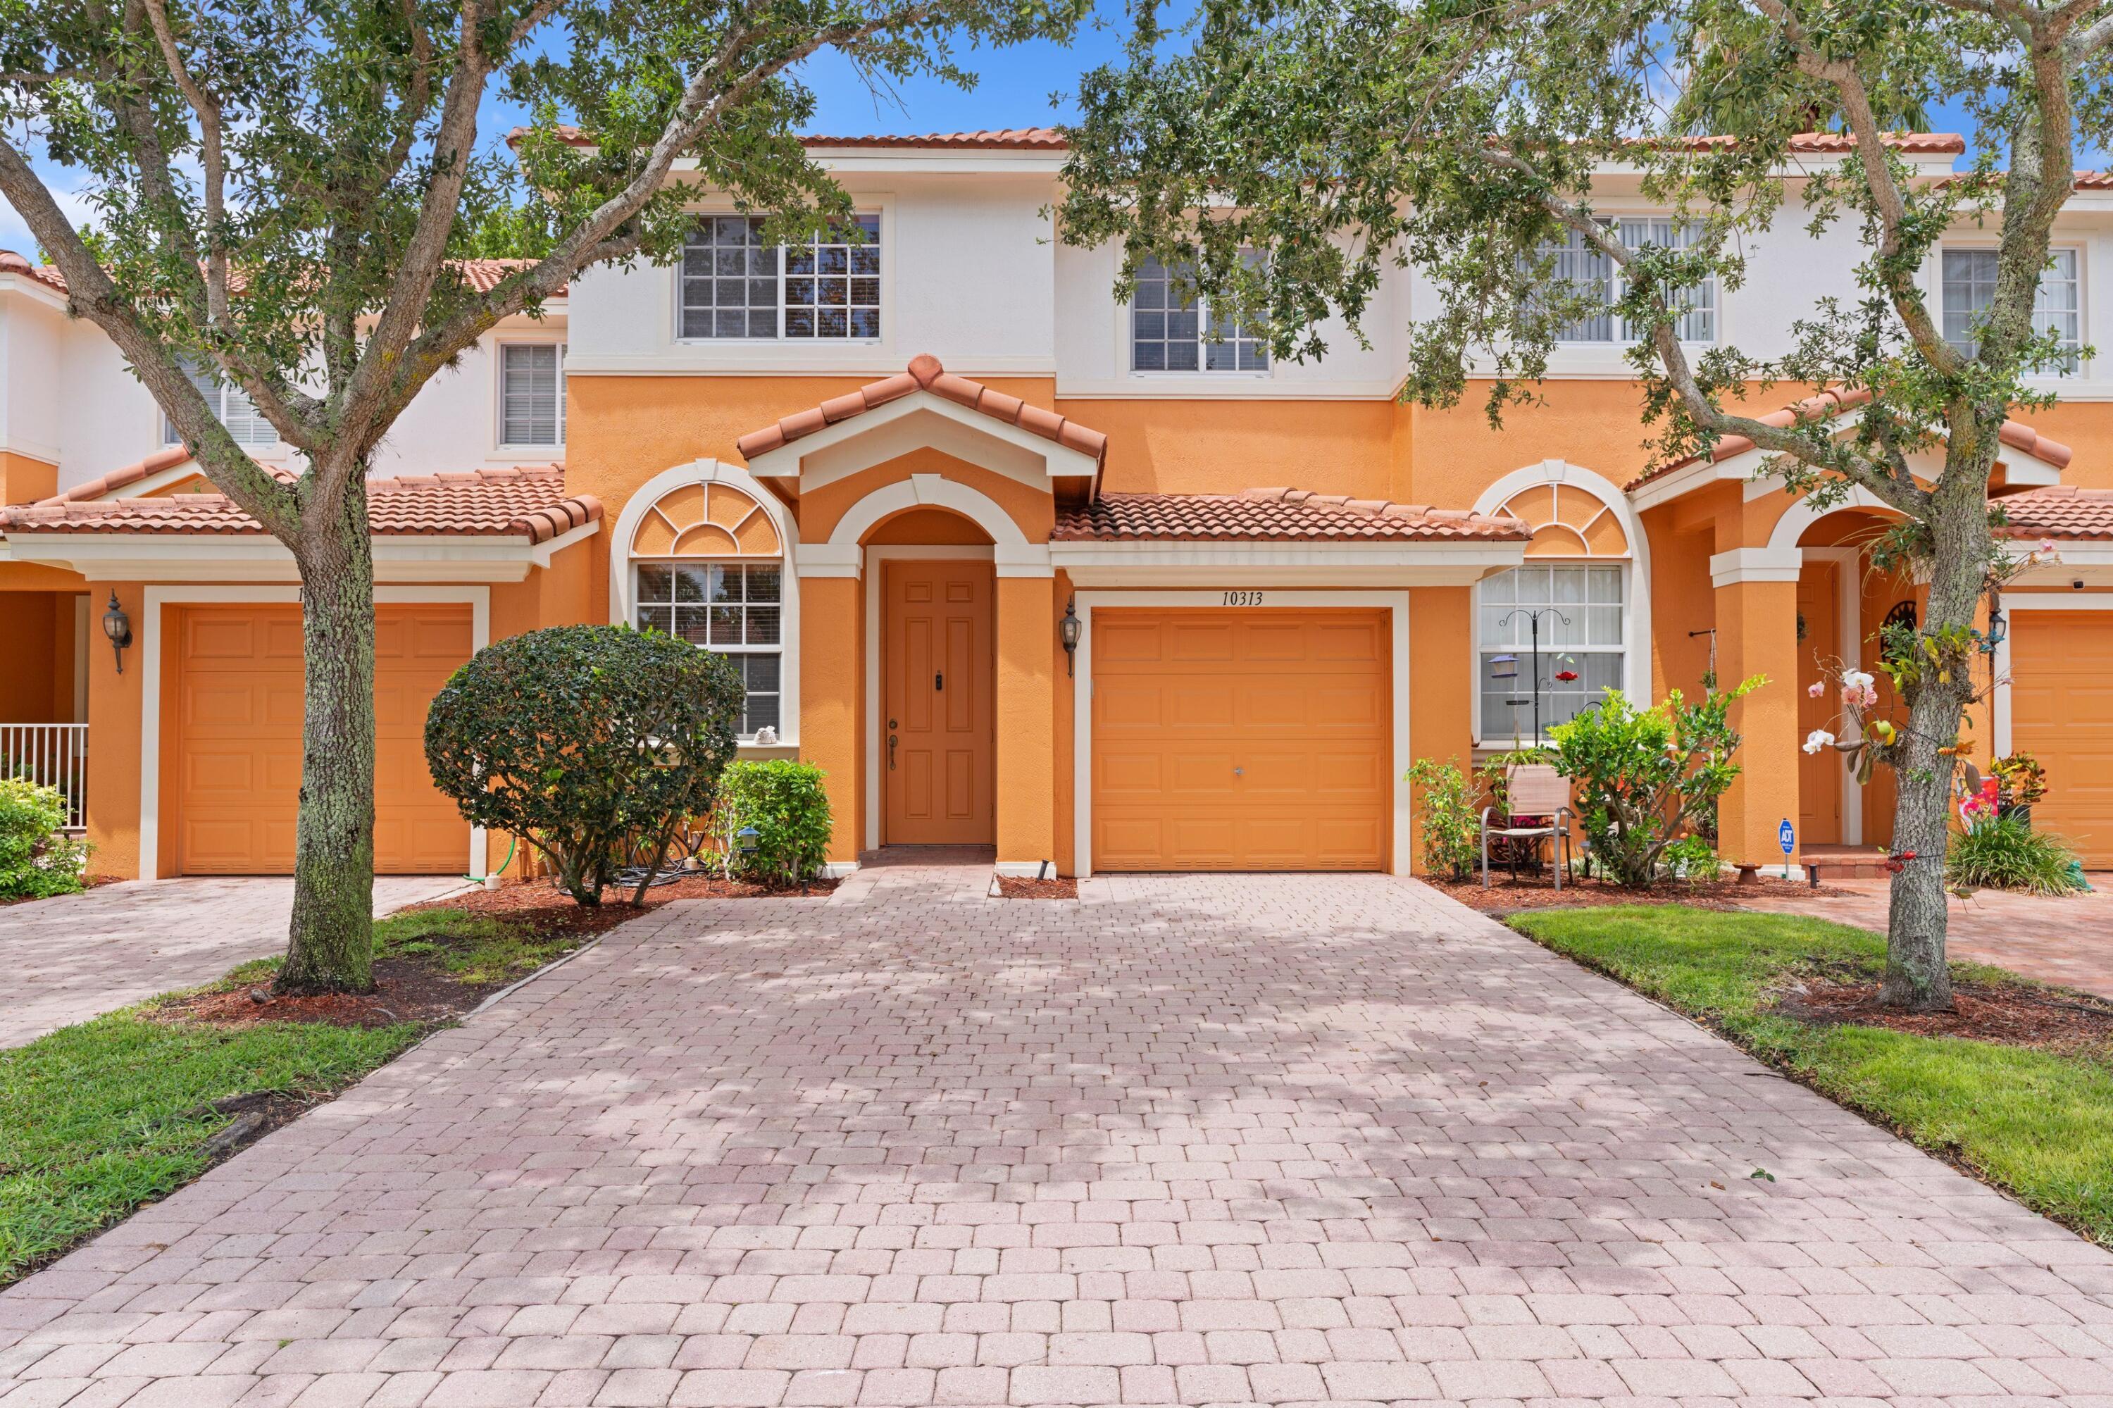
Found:
[{"label": "large forked leafy tree left of the central driveway", "polygon": [[[575,275],[668,262],[695,188],[797,239],[849,218],[801,63],[968,85],[964,42],[1065,38],[1084,0],[0,0],[0,194],[203,474],[292,552],[306,717],[281,992],[372,985],[374,560],[366,474],[435,372]],[[511,146],[484,129],[532,114]],[[518,186],[511,163],[518,161]],[[46,171],[95,209],[76,230]],[[526,209],[507,211],[509,192]],[[537,258],[478,290],[459,260]],[[190,372],[304,461],[260,467]]]}]

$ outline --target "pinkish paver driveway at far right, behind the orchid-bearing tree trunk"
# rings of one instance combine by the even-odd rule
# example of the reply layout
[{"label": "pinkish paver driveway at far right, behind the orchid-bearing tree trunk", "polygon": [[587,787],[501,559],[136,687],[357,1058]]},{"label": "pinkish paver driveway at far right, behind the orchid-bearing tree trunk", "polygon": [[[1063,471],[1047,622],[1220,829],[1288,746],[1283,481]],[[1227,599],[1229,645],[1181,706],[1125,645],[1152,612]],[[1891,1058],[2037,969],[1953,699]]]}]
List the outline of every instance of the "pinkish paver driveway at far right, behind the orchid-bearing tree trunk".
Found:
[{"label": "pinkish paver driveway at far right, behind the orchid-bearing tree trunk", "polygon": [[[2035,977],[2041,983],[2081,987],[2113,998],[2113,873],[2092,873],[2092,894],[2047,898],[1980,890],[1969,901],[1950,903],[1946,949]],[[1792,896],[1777,892],[1750,909],[1809,913],[1836,924],[1885,932],[1891,888],[1883,879],[1828,882],[1853,896]]]}]

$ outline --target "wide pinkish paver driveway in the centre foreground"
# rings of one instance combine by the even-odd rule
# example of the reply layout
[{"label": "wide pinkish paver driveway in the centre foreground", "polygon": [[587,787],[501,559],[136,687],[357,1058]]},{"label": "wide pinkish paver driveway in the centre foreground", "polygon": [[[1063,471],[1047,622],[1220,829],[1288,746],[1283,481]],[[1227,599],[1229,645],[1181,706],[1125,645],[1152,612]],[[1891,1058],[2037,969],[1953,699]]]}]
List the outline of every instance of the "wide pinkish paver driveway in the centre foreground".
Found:
[{"label": "wide pinkish paver driveway in the centre foreground", "polygon": [[615,930],[0,1296],[0,1404],[2113,1404],[2113,1258],[1428,890],[978,890]]}]

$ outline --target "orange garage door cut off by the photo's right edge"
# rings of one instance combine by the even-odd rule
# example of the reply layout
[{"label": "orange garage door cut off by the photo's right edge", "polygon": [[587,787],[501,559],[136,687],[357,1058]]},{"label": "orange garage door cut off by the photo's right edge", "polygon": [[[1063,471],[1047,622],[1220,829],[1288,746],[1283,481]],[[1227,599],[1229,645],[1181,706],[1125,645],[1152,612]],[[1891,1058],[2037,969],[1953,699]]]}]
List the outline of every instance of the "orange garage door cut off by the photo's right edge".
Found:
[{"label": "orange garage door cut off by the photo's right edge", "polygon": [[2012,611],[2009,708],[2012,746],[2047,767],[2033,827],[2113,867],[2113,613]]}]

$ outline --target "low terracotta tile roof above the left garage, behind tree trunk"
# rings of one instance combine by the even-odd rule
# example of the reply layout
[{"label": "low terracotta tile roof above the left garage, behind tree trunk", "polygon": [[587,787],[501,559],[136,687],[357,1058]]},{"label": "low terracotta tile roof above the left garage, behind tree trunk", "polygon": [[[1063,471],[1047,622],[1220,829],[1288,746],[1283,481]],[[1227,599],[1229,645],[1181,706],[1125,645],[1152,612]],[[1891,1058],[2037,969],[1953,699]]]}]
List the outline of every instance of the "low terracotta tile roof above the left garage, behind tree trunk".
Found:
[{"label": "low terracotta tile roof above the left garage, behind tree trunk", "polygon": [[[543,543],[602,516],[594,495],[566,495],[564,469],[467,469],[368,480],[378,535],[490,535]],[[0,510],[0,533],[262,533],[226,495],[76,501]]]}]

